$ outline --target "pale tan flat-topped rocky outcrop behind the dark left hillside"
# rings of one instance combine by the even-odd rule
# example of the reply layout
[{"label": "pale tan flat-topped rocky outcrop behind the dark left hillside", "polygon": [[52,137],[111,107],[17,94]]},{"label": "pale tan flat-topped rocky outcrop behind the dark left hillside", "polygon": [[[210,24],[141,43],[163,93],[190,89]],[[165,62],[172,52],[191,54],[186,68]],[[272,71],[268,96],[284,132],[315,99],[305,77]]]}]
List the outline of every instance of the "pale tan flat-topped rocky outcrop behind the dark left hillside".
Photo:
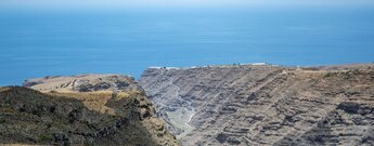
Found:
[{"label": "pale tan flat-topped rocky outcrop behind the dark left hillside", "polygon": [[141,90],[134,79],[122,75],[78,75],[78,76],[48,76],[28,79],[23,87],[42,92],[69,91],[132,91]]}]

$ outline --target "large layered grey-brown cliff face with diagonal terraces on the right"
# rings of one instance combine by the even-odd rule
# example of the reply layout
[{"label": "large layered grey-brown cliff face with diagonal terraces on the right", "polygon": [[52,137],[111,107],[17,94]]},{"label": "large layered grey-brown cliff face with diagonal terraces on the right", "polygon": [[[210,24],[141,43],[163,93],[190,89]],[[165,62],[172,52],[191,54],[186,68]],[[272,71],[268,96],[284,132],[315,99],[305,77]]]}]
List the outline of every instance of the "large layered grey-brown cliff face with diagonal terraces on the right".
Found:
[{"label": "large layered grey-brown cliff face with diagonal terraces on the right", "polygon": [[374,145],[373,68],[150,68],[140,84],[183,145]]}]

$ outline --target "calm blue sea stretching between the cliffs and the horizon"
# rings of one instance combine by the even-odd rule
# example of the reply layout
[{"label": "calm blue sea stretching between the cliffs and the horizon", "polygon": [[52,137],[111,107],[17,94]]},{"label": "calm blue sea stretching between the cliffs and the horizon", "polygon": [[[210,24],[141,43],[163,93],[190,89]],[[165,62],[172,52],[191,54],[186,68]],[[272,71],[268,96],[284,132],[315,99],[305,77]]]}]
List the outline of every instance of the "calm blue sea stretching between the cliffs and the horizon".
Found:
[{"label": "calm blue sea stretching between the cliffs and the horizon", "polygon": [[0,11],[0,85],[150,66],[374,62],[373,9]]}]

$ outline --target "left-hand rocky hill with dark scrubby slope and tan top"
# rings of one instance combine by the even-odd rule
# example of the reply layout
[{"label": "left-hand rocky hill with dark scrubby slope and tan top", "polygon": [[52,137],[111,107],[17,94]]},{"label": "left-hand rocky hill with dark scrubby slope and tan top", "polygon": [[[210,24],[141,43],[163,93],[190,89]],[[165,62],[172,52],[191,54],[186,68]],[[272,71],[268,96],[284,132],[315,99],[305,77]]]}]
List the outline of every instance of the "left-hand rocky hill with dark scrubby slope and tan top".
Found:
[{"label": "left-hand rocky hill with dark scrubby slope and tan top", "polygon": [[25,84],[31,89],[0,89],[0,144],[179,145],[129,77],[49,77]]}]

